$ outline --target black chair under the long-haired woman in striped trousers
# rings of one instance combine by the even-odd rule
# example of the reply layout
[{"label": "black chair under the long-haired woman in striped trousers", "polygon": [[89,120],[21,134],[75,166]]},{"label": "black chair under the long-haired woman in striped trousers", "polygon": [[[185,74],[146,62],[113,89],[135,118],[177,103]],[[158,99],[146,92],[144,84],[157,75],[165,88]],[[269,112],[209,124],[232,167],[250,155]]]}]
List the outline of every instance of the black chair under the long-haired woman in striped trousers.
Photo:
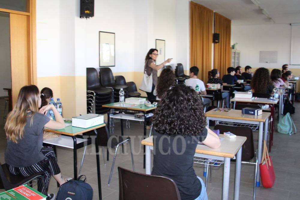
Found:
[{"label": "black chair under the long-haired woman in striped trousers", "polygon": [[41,179],[44,187],[44,195],[47,195],[45,180],[43,175],[44,172],[38,172],[34,175],[26,176],[26,177],[22,175],[13,175],[9,172],[6,163],[2,165],[0,163],[0,176],[1,176],[0,189],[10,190],[15,187],[19,187],[21,185],[29,184],[33,180]]}]

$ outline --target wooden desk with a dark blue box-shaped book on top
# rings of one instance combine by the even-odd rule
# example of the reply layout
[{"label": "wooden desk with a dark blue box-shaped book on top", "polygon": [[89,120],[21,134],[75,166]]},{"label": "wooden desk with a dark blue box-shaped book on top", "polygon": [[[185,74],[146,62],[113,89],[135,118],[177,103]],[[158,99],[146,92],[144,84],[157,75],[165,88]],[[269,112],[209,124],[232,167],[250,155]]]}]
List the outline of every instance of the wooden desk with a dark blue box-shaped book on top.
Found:
[{"label": "wooden desk with a dark blue box-shaped book on top", "polygon": [[[261,162],[262,158],[262,140],[267,141],[268,139],[268,122],[270,113],[262,112],[262,115],[244,115],[241,113],[241,110],[231,110],[229,112],[215,112],[208,111],[205,112],[207,127],[209,127],[209,120],[216,121],[226,121],[232,123],[240,123],[240,124],[257,124],[259,126],[258,131],[258,163]],[[264,128],[264,131],[263,131]],[[263,135],[263,132],[265,133]],[[259,167],[257,169],[257,178],[256,178],[256,187],[259,187]]]}]

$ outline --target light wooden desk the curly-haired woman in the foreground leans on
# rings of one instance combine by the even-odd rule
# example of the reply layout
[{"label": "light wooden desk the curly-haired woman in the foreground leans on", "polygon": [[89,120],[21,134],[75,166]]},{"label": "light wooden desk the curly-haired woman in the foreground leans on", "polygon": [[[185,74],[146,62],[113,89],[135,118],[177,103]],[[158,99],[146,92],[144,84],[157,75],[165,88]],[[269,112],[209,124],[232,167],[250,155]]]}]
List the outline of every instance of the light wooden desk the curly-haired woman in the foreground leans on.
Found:
[{"label": "light wooden desk the curly-haired woman in the foreground leans on", "polygon": [[[236,155],[235,163],[235,187],[234,199],[239,198],[239,185],[241,174],[241,147],[247,140],[246,137],[237,136],[234,139],[220,134],[221,141],[220,148],[212,149],[205,145],[197,145],[195,157],[202,157],[208,159],[217,159],[224,161],[224,174],[223,174],[223,193],[222,199],[228,199],[229,193],[229,174],[230,174],[230,159]],[[151,174],[151,149],[153,150],[153,136],[142,140],[142,145],[146,146],[146,174]]]}]

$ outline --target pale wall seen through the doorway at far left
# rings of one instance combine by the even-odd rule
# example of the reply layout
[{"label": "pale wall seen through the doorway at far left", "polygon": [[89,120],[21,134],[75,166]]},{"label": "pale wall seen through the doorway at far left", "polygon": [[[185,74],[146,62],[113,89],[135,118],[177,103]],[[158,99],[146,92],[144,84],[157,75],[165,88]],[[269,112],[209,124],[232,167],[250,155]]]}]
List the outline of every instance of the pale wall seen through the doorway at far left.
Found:
[{"label": "pale wall seen through the doorway at far left", "polygon": [[8,96],[2,88],[11,88],[9,14],[0,12],[0,97]]}]

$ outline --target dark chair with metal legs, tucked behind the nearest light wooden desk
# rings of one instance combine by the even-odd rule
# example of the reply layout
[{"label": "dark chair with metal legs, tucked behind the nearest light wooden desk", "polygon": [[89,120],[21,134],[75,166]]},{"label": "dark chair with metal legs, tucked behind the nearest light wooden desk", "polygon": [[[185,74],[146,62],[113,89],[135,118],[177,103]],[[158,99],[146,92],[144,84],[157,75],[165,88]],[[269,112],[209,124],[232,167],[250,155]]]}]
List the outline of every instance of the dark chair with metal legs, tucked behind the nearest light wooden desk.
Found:
[{"label": "dark chair with metal legs, tucked behind the nearest light wooden desk", "polygon": [[[256,172],[258,167],[257,150],[254,148],[253,133],[250,127],[233,127],[217,124],[214,130],[220,130],[220,133],[228,132],[235,134],[236,136],[247,137],[246,142],[242,146],[241,163],[254,165],[254,182],[253,182],[253,199],[255,199],[256,191]],[[235,160],[232,160],[235,161]]]}]

